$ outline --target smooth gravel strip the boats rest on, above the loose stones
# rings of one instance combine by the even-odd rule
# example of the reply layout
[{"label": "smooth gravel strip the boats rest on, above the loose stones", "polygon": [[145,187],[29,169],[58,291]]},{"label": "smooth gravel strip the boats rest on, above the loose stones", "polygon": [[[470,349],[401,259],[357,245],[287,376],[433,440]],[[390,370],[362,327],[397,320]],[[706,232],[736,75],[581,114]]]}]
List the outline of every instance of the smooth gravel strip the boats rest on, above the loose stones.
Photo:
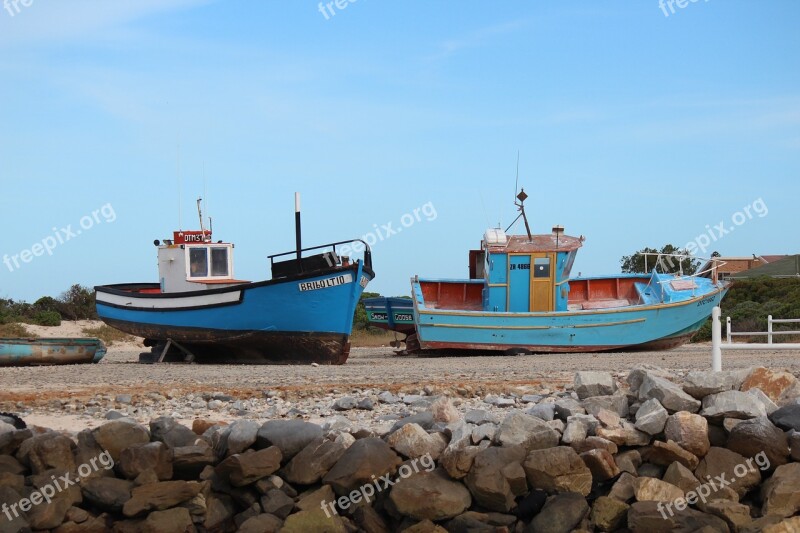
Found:
[{"label": "smooth gravel strip the boats rest on, above the loose stones", "polygon": [[[411,391],[469,385],[505,392],[520,385],[552,387],[571,383],[578,370],[626,373],[637,363],[672,370],[710,368],[711,346],[692,344],[663,352],[553,354],[520,356],[396,356],[391,348],[354,348],[342,366],[138,364],[139,350],[111,347],[97,365],[0,368],[0,401],[32,401],[86,393],[119,394],[143,390],[222,391],[239,396],[266,390],[301,396],[342,393],[351,388]],[[800,373],[800,352],[723,352],[723,368],[766,366]],[[526,387],[527,388],[527,387]]]}]

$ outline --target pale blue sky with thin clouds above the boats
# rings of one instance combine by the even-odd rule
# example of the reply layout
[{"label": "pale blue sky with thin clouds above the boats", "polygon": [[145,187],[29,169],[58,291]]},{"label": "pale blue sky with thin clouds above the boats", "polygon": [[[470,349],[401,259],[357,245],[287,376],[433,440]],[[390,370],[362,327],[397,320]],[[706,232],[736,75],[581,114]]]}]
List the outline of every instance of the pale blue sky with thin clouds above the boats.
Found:
[{"label": "pale blue sky with thin clouds above the boats", "polygon": [[723,221],[706,255],[800,251],[794,1],[26,3],[0,10],[0,256],[63,242],[0,297],[156,281],[204,191],[251,280],[294,191],[307,245],[433,206],[373,247],[369,290],[405,294],[516,216],[517,151],[534,231],[587,237],[575,274]]}]

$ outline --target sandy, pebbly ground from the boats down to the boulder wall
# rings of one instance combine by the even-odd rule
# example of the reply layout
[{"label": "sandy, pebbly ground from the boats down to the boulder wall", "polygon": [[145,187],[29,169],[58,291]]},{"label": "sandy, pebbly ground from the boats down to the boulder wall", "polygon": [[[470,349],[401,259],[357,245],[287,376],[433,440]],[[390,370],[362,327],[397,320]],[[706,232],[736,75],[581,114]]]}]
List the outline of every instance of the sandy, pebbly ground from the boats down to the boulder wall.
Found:
[{"label": "sandy, pebbly ground from the boats down to the boulder wall", "polygon": [[[29,330],[46,337],[78,336],[97,324],[64,322]],[[707,343],[664,352],[468,357],[397,356],[390,347],[356,347],[342,366],[139,364],[138,355],[145,350],[136,342],[116,343],[95,365],[0,368],[0,409],[22,412],[35,425],[77,431],[102,423],[115,409],[142,420],[177,415],[189,424],[209,411],[219,419],[280,417],[293,408],[301,411],[299,416],[326,417],[335,399],[347,394],[446,394],[463,398],[466,408],[487,395],[513,398],[563,390],[580,370],[610,371],[619,377],[637,363],[679,373],[705,370],[711,354]],[[727,352],[723,367],[766,366],[800,375],[797,355]],[[223,405],[209,409],[215,396],[224,399]],[[249,404],[234,407],[237,401]],[[382,414],[378,409],[358,416],[366,420]]]}]

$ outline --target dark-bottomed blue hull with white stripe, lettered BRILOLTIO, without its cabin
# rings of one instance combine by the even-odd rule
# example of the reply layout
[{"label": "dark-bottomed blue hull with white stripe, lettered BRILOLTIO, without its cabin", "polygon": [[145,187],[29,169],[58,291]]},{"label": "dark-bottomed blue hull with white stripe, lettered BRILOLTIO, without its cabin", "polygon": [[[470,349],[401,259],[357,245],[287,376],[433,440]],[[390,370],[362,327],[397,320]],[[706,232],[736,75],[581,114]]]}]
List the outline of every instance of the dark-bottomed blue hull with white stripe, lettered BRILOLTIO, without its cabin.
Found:
[{"label": "dark-bottomed blue hull with white stripe, lettered BRILOLTIO, without its cabin", "polygon": [[[342,364],[371,271],[361,263],[313,275],[206,291],[152,294],[157,285],[97,287],[107,324],[153,345],[172,340],[198,362]],[[144,291],[142,291],[144,289]]]}]

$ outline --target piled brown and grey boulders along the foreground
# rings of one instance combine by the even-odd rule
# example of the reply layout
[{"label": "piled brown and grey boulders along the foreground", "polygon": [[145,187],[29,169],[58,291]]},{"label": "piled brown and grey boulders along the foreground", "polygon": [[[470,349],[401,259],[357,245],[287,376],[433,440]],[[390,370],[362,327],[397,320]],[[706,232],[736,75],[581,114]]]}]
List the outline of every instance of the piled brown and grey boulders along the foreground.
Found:
[{"label": "piled brown and grey boulders along the foreground", "polygon": [[564,391],[522,397],[383,391],[319,407],[367,413],[363,423],[309,421],[277,397],[264,401],[280,419],[220,423],[208,409],[245,416],[254,400],[213,395],[196,399],[205,416],[191,429],[132,418],[150,412],[137,408],[146,397],[94,406],[114,419],[77,434],[7,418],[0,532],[800,531],[793,375],[642,365],[620,376],[579,372]]}]

